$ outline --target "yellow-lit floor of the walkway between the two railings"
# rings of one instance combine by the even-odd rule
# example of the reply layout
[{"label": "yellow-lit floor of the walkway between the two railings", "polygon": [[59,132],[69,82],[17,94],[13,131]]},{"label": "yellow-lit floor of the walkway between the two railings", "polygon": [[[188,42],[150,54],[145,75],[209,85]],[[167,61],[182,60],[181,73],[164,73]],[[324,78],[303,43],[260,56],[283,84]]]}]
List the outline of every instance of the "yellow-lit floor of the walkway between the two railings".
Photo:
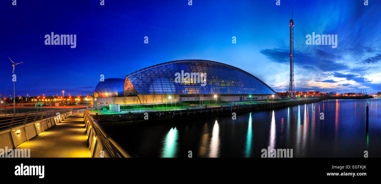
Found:
[{"label": "yellow-lit floor of the walkway between the two railings", "polygon": [[30,149],[30,157],[91,157],[86,146],[83,115],[72,115],[61,123],[26,141],[16,149]]}]

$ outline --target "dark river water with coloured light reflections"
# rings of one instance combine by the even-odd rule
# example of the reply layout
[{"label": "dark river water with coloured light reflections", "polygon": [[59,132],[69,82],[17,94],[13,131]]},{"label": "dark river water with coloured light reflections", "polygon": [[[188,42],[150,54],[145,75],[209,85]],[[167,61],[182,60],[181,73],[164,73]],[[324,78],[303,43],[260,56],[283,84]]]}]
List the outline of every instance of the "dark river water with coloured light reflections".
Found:
[{"label": "dark river water with coloured light reflections", "polygon": [[364,150],[381,157],[381,98],[369,100],[368,133],[366,101],[325,100],[240,113],[237,120],[204,117],[117,130],[139,157],[187,157],[189,150],[193,157],[260,157],[267,146],[293,149],[294,157],[362,157]]}]

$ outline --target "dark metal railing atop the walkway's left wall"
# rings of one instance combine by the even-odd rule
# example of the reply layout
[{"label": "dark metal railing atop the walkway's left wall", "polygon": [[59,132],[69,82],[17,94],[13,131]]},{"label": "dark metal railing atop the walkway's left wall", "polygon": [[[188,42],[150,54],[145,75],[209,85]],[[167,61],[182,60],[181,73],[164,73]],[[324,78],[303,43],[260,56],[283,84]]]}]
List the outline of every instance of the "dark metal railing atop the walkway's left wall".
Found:
[{"label": "dark metal railing atop the walkway's left wall", "polygon": [[42,118],[56,116],[57,113],[65,114],[70,111],[72,111],[72,109],[1,116],[0,129],[12,128],[13,125],[19,125],[21,123],[25,125],[26,123],[31,121],[35,121],[38,119],[42,120]]}]

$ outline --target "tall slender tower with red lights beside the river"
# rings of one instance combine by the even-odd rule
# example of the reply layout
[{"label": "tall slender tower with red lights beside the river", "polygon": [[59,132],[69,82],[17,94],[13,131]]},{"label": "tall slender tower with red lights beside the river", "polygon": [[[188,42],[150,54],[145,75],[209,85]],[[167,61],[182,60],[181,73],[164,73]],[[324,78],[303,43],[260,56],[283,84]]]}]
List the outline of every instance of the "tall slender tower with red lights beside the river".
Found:
[{"label": "tall slender tower with red lights beside the river", "polygon": [[290,86],[288,87],[288,93],[290,98],[294,98],[295,84],[294,84],[294,21],[291,13],[290,20]]}]

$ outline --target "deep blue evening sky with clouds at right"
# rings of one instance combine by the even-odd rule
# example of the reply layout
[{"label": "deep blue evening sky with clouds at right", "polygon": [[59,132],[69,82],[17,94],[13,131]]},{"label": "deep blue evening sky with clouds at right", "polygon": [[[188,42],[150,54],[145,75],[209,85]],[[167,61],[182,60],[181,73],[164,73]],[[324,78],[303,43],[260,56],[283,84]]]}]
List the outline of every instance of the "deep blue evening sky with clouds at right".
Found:
[{"label": "deep blue evening sky with clouds at right", "polygon": [[[0,2],[0,94],[91,94],[99,76],[125,78],[147,66],[207,59],[239,67],[276,91],[289,83],[294,7],[295,88],[338,93],[381,90],[381,1],[369,0],[11,0]],[[45,45],[76,34],[77,47]],[[306,45],[337,34],[338,47]],[[144,37],[149,43],[144,44]],[[232,37],[237,43],[232,43]],[[279,80],[277,80],[279,75]],[[364,78],[367,78],[364,80]],[[6,93],[6,94],[5,94]],[[62,93],[61,93],[62,94]]]}]

